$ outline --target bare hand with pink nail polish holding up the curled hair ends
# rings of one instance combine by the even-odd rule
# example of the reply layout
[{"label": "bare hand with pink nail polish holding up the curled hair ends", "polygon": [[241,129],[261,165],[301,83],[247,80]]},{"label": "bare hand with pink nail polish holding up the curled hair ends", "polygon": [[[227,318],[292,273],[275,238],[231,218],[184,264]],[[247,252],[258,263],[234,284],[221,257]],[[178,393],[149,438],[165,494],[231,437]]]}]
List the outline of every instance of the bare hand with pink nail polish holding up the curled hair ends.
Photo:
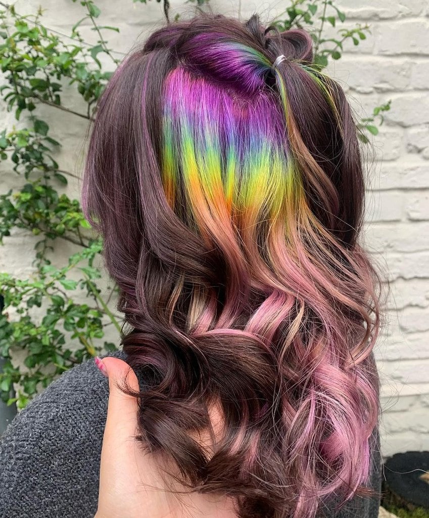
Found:
[{"label": "bare hand with pink nail polish holding up the curled hair ends", "polygon": [[[144,453],[134,439],[137,399],[127,396],[114,384],[114,380],[121,383],[126,376],[132,389],[138,391],[137,376],[119,358],[108,356],[97,363],[109,378],[109,402],[95,518],[236,518],[226,497],[199,493],[175,495],[167,490],[159,459]],[[171,466],[167,468],[172,471]]]}]

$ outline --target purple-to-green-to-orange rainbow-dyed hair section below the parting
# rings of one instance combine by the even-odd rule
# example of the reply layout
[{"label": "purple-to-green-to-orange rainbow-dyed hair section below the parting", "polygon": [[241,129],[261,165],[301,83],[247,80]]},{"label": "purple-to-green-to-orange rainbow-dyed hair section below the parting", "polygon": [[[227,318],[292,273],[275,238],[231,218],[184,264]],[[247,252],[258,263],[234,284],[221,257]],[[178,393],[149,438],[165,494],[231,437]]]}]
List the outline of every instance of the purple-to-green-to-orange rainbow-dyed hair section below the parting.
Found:
[{"label": "purple-to-green-to-orange rainbow-dyed hair section below the parting", "polygon": [[[244,81],[246,72],[254,79],[255,67],[260,76],[270,69],[254,49],[223,47],[211,51],[231,60]],[[275,224],[304,210],[284,113],[272,94],[234,98],[222,85],[178,67],[166,79],[164,95],[162,184],[171,207],[181,210],[179,197],[185,196],[187,216],[208,245],[211,229],[219,225],[232,235],[233,223],[238,228],[261,219]]]}]

